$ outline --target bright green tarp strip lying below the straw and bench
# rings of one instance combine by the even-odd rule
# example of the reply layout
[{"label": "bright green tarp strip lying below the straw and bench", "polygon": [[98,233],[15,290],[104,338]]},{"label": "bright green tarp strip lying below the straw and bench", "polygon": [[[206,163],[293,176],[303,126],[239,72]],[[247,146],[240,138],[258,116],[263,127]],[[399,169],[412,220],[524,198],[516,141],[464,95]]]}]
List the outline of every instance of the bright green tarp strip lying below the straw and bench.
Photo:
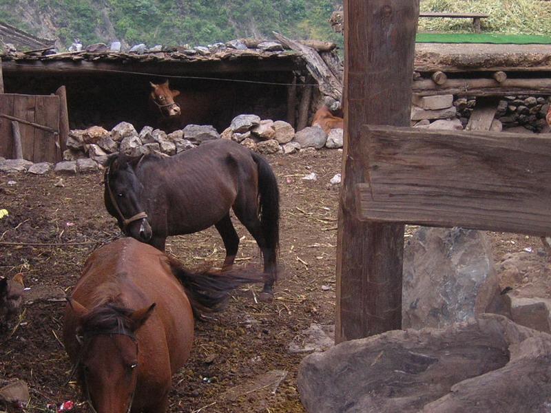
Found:
[{"label": "bright green tarp strip lying below the straw and bench", "polygon": [[551,36],[528,34],[418,33],[417,43],[494,43],[511,45],[551,45]]}]

